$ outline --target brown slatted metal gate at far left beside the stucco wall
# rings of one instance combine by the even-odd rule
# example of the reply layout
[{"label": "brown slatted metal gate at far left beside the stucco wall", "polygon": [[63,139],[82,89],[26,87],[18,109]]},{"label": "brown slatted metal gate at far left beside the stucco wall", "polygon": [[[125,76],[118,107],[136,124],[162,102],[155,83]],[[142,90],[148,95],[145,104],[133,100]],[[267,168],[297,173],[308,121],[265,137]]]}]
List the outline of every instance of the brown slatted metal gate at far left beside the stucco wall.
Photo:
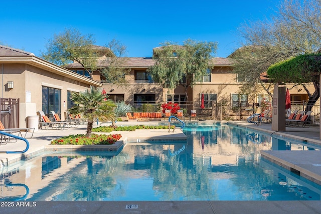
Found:
[{"label": "brown slatted metal gate at far left beside the stucco wall", "polygon": [[19,128],[19,99],[0,98],[0,121],[5,128]]}]

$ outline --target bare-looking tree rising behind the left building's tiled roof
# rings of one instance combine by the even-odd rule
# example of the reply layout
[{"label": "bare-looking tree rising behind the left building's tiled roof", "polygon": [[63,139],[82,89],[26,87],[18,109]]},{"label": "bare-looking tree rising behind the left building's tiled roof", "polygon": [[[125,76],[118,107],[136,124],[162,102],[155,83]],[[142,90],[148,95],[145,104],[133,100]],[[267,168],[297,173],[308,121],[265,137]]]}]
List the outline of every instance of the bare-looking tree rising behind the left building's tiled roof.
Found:
[{"label": "bare-looking tree rising behind the left building's tiled roof", "polygon": [[54,34],[46,45],[47,51],[42,58],[54,64],[64,66],[77,62],[82,65],[92,78],[96,70],[96,53],[93,50],[95,39],[93,35],[82,35],[77,29],[65,29],[60,34]]}]

